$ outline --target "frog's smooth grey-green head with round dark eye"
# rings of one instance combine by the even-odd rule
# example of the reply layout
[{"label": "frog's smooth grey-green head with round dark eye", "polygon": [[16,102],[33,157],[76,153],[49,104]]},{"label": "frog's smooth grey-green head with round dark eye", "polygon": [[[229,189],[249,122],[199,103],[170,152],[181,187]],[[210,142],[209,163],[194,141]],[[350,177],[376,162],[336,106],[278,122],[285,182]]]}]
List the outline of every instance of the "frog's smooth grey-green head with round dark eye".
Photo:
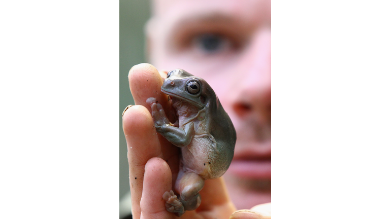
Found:
[{"label": "frog's smooth grey-green head with round dark eye", "polygon": [[215,96],[205,80],[180,68],[168,72],[161,91],[185,100],[198,108],[203,108],[210,97]]}]

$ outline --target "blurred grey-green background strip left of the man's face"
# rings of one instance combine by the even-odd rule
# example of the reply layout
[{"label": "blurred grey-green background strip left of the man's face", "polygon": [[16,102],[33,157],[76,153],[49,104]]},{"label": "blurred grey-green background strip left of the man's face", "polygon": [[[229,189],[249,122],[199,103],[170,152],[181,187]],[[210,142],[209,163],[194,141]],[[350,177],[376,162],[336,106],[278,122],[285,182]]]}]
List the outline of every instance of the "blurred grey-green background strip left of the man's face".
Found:
[{"label": "blurred grey-green background strip left of the man's face", "polygon": [[144,25],[150,16],[150,2],[119,1],[119,199],[129,190],[127,147],[122,130],[122,112],[134,100],[128,88],[127,74],[133,65],[146,62]]}]

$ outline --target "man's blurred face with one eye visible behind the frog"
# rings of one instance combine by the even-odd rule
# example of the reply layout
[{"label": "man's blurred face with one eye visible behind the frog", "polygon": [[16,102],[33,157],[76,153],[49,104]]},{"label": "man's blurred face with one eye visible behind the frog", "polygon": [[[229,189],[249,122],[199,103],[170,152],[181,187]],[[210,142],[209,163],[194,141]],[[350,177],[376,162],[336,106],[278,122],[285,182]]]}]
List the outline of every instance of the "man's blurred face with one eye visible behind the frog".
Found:
[{"label": "man's blurred face with one eye visible behind the frog", "polygon": [[224,174],[238,209],[271,202],[271,1],[156,0],[149,61],[214,89],[237,131]]}]

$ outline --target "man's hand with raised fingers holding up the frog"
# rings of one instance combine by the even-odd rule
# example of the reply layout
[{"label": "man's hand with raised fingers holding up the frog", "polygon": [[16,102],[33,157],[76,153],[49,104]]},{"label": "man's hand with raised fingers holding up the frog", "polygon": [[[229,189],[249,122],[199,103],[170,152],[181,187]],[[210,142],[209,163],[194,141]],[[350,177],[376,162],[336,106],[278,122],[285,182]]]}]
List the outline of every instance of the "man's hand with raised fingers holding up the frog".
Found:
[{"label": "man's hand with raised fingers holding up the frog", "polygon": [[[159,73],[150,64],[135,65],[129,72],[129,86],[135,106],[123,113],[123,130],[127,141],[133,218],[178,218],[166,210],[163,194],[170,191],[179,170],[180,149],[157,134],[146,100],[155,97],[163,105],[170,121],[175,112],[168,96],[160,91],[166,72]],[[200,192],[202,203],[180,218],[229,218],[236,210],[230,201],[222,178],[208,179]],[[259,214],[250,213],[262,218]],[[232,215],[234,216],[234,215]]]}]

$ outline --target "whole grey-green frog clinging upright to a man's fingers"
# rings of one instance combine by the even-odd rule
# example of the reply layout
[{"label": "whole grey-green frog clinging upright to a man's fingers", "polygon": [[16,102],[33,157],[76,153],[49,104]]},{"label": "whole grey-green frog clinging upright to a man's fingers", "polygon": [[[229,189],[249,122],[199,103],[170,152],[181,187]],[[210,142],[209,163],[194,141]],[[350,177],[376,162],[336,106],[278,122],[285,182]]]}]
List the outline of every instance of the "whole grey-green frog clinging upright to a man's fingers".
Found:
[{"label": "whole grey-green frog clinging upright to a man's fingers", "polygon": [[218,178],[233,159],[236,131],[210,85],[183,69],[169,71],[161,91],[170,96],[178,121],[170,123],[161,104],[150,97],[156,131],[181,148],[175,184],[178,196],[165,192],[169,212],[181,216],[201,203],[205,179]]}]

